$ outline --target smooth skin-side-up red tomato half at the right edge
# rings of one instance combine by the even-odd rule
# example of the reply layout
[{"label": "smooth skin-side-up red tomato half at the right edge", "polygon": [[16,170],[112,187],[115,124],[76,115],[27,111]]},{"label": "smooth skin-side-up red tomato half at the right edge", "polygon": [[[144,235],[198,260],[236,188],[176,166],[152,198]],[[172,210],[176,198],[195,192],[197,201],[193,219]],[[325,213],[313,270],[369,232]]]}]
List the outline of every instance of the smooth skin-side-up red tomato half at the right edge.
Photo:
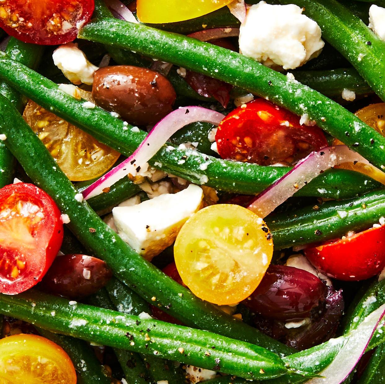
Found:
[{"label": "smooth skin-side-up red tomato half at the right edge", "polygon": [[305,256],[332,278],[345,281],[371,278],[385,266],[385,226],[306,248]]}]

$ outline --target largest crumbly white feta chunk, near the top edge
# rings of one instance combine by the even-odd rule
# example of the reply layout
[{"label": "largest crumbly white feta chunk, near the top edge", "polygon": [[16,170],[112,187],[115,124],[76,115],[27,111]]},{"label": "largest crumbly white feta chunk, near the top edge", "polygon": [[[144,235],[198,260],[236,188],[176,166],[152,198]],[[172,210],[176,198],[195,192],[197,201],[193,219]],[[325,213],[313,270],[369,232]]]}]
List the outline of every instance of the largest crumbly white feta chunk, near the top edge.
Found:
[{"label": "largest crumbly white feta chunk, near the top edge", "polygon": [[239,51],[266,66],[294,69],[317,57],[324,42],[318,24],[294,4],[252,5],[241,23]]}]

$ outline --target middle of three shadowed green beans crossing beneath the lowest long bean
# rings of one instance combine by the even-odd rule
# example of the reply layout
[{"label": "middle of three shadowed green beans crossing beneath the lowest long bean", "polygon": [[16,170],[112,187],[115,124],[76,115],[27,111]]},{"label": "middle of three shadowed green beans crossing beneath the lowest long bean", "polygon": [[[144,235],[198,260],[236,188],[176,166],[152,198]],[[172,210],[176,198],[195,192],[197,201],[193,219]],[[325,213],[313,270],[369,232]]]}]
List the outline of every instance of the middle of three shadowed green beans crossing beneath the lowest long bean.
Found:
[{"label": "middle of three shadowed green beans crossing beneath the lowest long bean", "polygon": [[[110,309],[111,311],[116,310],[104,288],[92,295],[88,301],[89,304],[94,306]],[[151,384],[153,382],[140,354],[120,348],[114,348],[114,353],[122,367],[124,376],[126,376],[126,381],[130,384]]]}]

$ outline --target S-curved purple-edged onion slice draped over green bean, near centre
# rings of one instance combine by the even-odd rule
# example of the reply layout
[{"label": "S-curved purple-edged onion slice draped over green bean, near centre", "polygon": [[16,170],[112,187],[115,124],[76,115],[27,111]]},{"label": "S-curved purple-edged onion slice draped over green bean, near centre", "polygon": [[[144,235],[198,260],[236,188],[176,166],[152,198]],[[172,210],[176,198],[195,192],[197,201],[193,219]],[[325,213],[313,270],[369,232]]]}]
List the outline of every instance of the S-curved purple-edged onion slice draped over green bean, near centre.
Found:
[{"label": "S-curved purple-edged onion slice draped over green bean, near centre", "polygon": [[87,187],[83,191],[83,197],[89,199],[97,196],[105,188],[109,188],[128,174],[135,176],[147,165],[147,161],[162,148],[166,141],[177,130],[187,124],[203,121],[218,125],[223,118],[224,115],[222,113],[199,106],[187,106],[172,111],[152,128],[137,150],[128,159],[112,168],[112,170]]}]

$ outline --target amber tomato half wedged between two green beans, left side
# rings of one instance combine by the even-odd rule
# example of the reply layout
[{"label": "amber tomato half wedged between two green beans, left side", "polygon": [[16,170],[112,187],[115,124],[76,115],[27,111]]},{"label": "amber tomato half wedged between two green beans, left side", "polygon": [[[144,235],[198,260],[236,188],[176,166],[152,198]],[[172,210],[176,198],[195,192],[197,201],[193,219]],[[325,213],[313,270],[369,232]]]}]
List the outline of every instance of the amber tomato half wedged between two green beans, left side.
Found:
[{"label": "amber tomato half wedged between two green beans, left side", "polygon": [[119,153],[30,100],[23,118],[71,181],[91,180],[103,175]]}]

